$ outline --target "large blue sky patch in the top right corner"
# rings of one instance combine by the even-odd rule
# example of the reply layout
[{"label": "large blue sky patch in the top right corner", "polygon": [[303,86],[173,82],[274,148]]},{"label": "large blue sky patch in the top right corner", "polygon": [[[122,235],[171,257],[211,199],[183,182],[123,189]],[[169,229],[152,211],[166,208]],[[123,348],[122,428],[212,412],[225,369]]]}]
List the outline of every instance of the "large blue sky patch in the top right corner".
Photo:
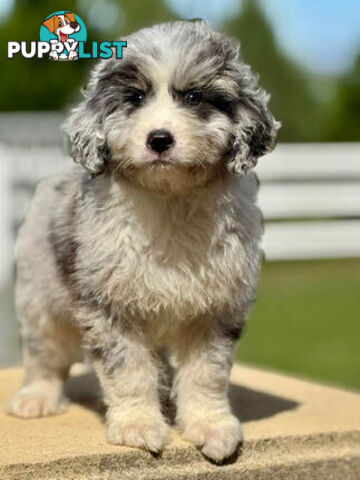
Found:
[{"label": "large blue sky patch in the top right corner", "polygon": [[309,68],[338,73],[360,53],[359,0],[262,0],[281,46]]}]

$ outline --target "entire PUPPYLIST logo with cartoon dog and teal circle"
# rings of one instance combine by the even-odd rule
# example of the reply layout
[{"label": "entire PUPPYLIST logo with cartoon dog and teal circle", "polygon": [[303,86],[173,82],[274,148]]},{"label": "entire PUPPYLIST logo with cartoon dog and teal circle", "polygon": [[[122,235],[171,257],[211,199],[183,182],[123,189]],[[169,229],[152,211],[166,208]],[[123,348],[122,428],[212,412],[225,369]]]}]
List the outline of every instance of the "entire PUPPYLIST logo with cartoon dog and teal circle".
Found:
[{"label": "entire PUPPYLIST logo with cartoon dog and teal circle", "polygon": [[82,58],[123,58],[125,41],[91,42],[85,48],[85,23],[76,13],[59,10],[47,16],[40,27],[40,42],[8,42],[8,58],[20,54],[24,58],[73,61]]}]

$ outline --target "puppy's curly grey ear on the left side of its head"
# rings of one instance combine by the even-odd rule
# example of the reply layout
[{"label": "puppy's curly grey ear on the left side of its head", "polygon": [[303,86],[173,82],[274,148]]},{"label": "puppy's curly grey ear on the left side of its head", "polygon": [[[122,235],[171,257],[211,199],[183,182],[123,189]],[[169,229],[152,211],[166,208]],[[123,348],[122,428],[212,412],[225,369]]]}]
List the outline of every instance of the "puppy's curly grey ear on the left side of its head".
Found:
[{"label": "puppy's curly grey ear on the left side of its head", "polygon": [[90,109],[86,99],[71,112],[63,129],[69,136],[73,160],[91,175],[102,173],[109,151],[101,118]]}]

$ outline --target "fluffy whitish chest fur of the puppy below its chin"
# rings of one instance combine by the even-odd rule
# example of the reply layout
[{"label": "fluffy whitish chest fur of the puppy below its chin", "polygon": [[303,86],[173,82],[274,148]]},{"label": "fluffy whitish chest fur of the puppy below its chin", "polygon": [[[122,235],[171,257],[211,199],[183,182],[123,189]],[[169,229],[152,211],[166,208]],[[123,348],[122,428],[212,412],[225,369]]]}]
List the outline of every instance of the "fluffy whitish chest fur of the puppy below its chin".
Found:
[{"label": "fluffy whitish chest fur of the puppy below its chin", "polygon": [[137,315],[188,318],[239,295],[244,246],[219,219],[130,217],[108,228],[102,249],[92,275],[98,294]]}]

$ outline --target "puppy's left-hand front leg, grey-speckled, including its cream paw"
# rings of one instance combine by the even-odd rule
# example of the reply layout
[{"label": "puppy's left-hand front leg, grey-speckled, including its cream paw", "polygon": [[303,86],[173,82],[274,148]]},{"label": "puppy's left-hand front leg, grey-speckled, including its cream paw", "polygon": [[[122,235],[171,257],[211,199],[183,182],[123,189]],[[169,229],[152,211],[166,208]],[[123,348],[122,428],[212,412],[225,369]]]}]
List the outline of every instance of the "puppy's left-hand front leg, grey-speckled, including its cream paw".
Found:
[{"label": "puppy's left-hand front leg, grey-speckled, including its cream paw", "polygon": [[158,395],[158,369],[142,334],[121,332],[102,314],[87,316],[85,348],[100,379],[110,443],[160,451],[168,441]]}]

